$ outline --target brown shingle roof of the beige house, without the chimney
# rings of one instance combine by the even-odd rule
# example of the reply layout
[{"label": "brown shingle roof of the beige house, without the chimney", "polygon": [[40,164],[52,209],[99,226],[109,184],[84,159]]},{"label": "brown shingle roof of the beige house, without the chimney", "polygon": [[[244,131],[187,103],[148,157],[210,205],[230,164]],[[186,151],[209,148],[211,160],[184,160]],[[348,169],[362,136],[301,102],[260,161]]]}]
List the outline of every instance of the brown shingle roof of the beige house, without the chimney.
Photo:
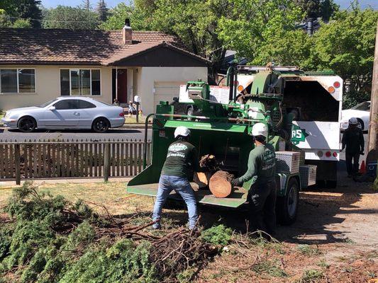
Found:
[{"label": "brown shingle roof of the beige house, without the chimney", "polygon": [[157,31],[133,31],[133,44],[125,45],[121,30],[1,28],[0,64],[111,65],[163,45],[207,61]]}]

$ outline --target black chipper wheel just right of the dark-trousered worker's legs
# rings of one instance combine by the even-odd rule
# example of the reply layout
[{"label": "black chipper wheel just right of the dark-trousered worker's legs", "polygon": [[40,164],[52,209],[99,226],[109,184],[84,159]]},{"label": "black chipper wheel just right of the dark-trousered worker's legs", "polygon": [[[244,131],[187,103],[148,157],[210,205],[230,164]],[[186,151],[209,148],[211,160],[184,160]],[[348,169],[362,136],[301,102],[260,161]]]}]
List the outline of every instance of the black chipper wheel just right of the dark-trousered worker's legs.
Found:
[{"label": "black chipper wheel just right of the dark-trousered worker's legs", "polygon": [[284,225],[293,224],[296,220],[299,202],[299,184],[291,178],[287,185],[287,194],[277,199],[277,218]]}]

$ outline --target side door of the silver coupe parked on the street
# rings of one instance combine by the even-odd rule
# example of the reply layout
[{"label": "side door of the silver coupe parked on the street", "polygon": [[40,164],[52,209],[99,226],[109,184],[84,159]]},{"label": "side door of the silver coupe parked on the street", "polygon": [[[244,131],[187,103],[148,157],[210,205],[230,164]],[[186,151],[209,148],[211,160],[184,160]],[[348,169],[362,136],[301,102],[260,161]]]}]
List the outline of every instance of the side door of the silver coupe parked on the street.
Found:
[{"label": "side door of the silver coupe parked on the street", "polygon": [[80,120],[79,100],[64,99],[54,105],[55,110],[46,110],[46,127],[77,127]]}]

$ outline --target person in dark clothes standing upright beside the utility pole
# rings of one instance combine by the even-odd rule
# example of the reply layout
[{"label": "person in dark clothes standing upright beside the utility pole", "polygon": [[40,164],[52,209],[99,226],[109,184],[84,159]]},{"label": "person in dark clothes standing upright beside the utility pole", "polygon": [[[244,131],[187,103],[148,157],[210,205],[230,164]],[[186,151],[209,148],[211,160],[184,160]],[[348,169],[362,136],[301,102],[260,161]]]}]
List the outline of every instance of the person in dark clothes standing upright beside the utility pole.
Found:
[{"label": "person in dark clothes standing upright beside the utility pole", "polygon": [[346,147],[345,162],[347,163],[347,172],[350,178],[358,173],[360,155],[364,154],[365,146],[364,135],[360,127],[358,127],[357,118],[350,118],[348,129],[345,129],[341,142],[343,144],[341,151]]}]

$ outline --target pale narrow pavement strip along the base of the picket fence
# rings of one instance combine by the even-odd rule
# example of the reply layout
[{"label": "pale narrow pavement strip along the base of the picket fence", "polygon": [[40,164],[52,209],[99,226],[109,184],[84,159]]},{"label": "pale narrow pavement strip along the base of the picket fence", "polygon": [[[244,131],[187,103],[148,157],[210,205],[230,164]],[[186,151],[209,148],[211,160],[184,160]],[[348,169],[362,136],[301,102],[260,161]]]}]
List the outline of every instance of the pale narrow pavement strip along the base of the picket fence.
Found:
[{"label": "pale narrow pavement strip along the base of the picket fence", "polygon": [[[128,182],[131,180],[131,177],[121,177],[121,178],[109,178],[108,182],[111,183],[122,183]],[[21,180],[21,185],[26,181],[33,181],[36,185],[40,184],[62,184],[62,183],[70,183],[70,184],[82,184],[82,183],[104,183],[104,178],[55,178],[55,179],[29,179],[29,180]],[[16,181],[0,181],[0,190],[11,188],[11,187],[20,187],[21,185],[16,185]]]}]

